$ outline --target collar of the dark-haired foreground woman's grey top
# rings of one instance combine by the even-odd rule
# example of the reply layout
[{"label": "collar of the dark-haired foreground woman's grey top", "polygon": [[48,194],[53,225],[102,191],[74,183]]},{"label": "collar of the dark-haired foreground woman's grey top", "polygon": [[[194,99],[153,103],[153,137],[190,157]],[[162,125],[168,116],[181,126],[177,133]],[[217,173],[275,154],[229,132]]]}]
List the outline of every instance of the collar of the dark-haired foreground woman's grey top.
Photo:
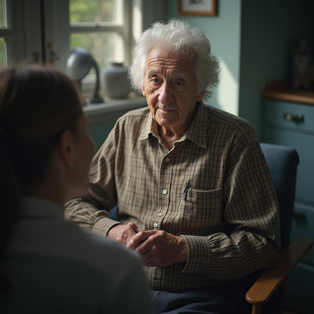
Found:
[{"label": "collar of the dark-haired foreground woman's grey top", "polygon": [[64,215],[63,208],[56,203],[45,198],[23,197],[21,202],[22,217],[37,217],[62,219]]}]

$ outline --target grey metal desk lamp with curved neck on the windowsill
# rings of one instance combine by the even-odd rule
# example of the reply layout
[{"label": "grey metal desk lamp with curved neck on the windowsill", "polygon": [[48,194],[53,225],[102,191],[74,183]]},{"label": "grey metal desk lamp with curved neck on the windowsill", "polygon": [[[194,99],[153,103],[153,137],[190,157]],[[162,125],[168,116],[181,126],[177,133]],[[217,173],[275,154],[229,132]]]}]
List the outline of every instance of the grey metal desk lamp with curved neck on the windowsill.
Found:
[{"label": "grey metal desk lamp with curved neck on the windowsill", "polygon": [[99,70],[98,65],[92,55],[84,48],[75,48],[72,50],[67,59],[67,74],[81,86],[81,80],[88,74],[91,68],[95,68],[96,85],[91,103],[103,103],[103,99],[99,96]]}]

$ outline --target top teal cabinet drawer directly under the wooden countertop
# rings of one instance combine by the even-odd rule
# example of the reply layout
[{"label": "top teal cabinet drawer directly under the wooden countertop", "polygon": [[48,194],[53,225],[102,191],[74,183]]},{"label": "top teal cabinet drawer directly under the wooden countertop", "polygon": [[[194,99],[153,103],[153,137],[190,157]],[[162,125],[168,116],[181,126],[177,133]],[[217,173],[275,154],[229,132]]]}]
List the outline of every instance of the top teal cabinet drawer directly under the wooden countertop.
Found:
[{"label": "top teal cabinet drawer directly under the wooden countertop", "polygon": [[[288,121],[286,114],[291,116],[303,116],[303,121]],[[265,101],[266,124],[280,127],[292,127],[296,130],[314,132],[314,105],[300,105],[287,101],[266,100]]]}]

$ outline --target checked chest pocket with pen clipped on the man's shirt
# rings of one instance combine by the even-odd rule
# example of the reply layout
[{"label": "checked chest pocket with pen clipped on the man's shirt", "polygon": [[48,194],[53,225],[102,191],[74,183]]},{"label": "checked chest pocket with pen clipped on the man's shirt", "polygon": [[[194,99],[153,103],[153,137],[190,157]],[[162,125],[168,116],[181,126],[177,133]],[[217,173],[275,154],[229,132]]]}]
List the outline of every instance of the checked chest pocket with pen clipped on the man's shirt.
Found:
[{"label": "checked chest pocket with pen clipped on the man's shirt", "polygon": [[[183,195],[184,189],[182,189]],[[185,228],[221,224],[221,189],[203,191],[189,188],[180,202],[180,221]]]}]

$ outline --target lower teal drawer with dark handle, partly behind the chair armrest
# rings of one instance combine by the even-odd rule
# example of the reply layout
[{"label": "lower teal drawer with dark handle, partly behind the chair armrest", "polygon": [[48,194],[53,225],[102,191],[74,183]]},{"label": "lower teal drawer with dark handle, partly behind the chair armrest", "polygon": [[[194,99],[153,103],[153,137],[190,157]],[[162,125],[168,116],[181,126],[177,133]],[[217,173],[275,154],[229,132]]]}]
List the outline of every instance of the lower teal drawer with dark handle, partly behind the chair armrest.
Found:
[{"label": "lower teal drawer with dark handle, partly behind the chair armrest", "polygon": [[[305,237],[314,241],[314,208],[295,203],[292,220],[291,241],[298,237]],[[314,248],[306,254],[302,262],[314,266]]]}]

